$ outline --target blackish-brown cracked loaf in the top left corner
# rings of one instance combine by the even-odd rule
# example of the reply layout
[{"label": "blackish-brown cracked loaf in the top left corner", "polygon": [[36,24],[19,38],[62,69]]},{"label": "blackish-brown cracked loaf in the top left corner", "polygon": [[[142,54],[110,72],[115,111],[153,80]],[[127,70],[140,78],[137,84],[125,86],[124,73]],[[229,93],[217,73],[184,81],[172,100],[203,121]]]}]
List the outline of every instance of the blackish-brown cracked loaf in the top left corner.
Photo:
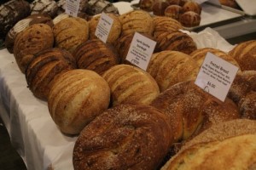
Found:
[{"label": "blackish-brown cracked loaf in the top left corner", "polygon": [[0,37],[5,37],[15,24],[30,14],[30,5],[24,0],[11,0],[0,6]]}]

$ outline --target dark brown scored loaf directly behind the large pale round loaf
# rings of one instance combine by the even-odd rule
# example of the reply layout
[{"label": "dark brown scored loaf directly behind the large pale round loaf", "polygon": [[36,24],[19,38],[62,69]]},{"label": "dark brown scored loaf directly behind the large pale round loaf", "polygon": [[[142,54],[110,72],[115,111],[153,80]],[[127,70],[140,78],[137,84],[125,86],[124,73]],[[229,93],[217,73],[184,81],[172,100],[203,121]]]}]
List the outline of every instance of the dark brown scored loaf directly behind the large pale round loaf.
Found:
[{"label": "dark brown scored loaf directly behind the large pale round loaf", "polygon": [[76,69],[72,54],[60,48],[49,48],[35,54],[26,69],[28,88],[39,99],[48,99],[53,79],[59,74]]}]

